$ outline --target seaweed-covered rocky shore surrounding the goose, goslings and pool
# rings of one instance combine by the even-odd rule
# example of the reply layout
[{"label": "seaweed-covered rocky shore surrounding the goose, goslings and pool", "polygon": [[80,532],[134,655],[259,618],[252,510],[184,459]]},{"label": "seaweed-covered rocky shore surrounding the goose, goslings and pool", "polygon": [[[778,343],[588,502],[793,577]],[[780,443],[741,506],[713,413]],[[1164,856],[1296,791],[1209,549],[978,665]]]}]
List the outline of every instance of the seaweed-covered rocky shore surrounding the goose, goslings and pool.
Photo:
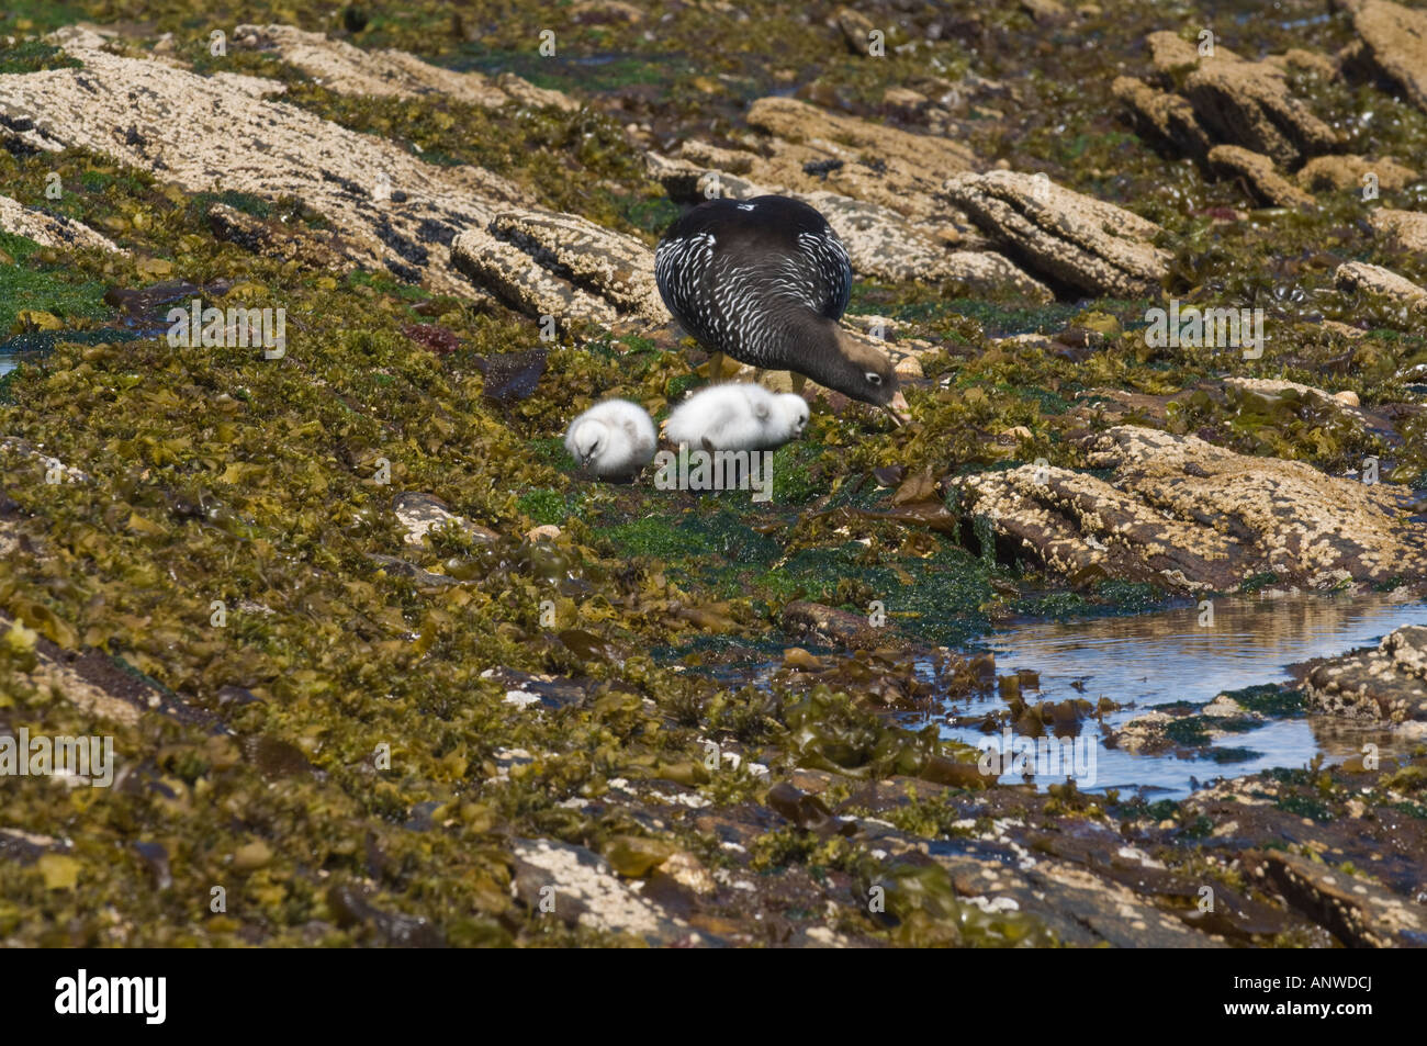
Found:
[{"label": "seaweed-covered rocky shore surrounding the goose, goslings and pool", "polygon": [[[558,16],[615,71],[527,16],[0,19],[0,739],[117,752],[6,771],[0,942],[1427,945],[1421,626],[1112,738],[1410,756],[1154,801],[936,731],[1035,689],[968,651],[1007,621],[1427,595],[1427,11],[1289,6],[1207,51],[1147,3],[751,9],[776,61],[719,6]],[[910,424],[819,390],[766,507],[591,484],[571,417],[719,377],[658,233],[765,193],[845,240]]]}]

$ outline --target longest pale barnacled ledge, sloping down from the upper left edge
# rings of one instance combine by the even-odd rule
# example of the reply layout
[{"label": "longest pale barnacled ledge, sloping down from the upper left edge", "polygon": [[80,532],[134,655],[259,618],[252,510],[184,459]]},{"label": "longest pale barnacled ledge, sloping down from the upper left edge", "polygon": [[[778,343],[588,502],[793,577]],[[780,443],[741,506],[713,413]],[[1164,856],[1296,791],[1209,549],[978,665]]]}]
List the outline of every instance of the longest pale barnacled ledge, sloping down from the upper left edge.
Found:
[{"label": "longest pale barnacled ledge, sloping down from the upper left edge", "polygon": [[[295,197],[337,230],[350,261],[461,293],[445,247],[525,194],[474,167],[435,167],[293,106],[148,60],[83,51],[84,68],[0,80],[0,137],[108,153],[193,193]],[[234,163],[233,157],[258,157]]]}]

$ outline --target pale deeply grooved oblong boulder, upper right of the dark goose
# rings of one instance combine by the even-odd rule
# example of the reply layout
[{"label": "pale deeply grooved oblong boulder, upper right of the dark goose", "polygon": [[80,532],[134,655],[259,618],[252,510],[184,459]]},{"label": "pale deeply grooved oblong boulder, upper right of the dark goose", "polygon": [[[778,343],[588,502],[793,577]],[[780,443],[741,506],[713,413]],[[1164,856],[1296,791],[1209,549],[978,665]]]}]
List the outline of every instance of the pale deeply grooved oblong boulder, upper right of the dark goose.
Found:
[{"label": "pale deeply grooved oblong boulder, upper right of the dark goose", "polygon": [[1045,176],[959,174],[943,191],[1015,261],[1089,294],[1159,294],[1169,274],[1159,225]]}]

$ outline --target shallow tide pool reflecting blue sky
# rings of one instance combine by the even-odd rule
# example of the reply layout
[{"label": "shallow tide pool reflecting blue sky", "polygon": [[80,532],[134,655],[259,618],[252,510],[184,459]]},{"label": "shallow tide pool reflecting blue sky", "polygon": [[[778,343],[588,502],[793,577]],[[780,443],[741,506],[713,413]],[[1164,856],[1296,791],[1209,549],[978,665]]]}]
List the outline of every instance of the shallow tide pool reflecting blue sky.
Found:
[{"label": "shallow tide pool reflecting blue sky", "polygon": [[[1427,602],[1404,602],[1391,595],[1220,598],[1214,601],[1212,628],[1200,626],[1199,616],[1197,608],[1187,606],[1137,616],[1010,625],[983,644],[995,652],[999,675],[1017,668],[1040,674],[1039,691],[1023,689],[1022,696],[1030,704],[1066,698],[1095,704],[1100,696],[1122,705],[1133,702],[1132,708],[1104,715],[1104,722],[1117,728],[1152,705],[1206,704],[1223,691],[1286,682],[1287,665],[1376,645],[1400,625],[1427,624]],[[999,694],[987,692],[958,701],[948,715],[982,715],[1005,706]],[[1220,776],[1300,768],[1319,752],[1329,763],[1343,762],[1360,755],[1367,742],[1377,743],[1384,756],[1410,748],[1378,728],[1320,715],[1270,721],[1260,729],[1214,742],[1217,748],[1261,753],[1232,763],[1110,749],[1093,719],[1082,725],[1082,733],[1095,748],[1095,783],[1077,782],[1082,791],[1139,788],[1153,798],[1182,798]],[[975,726],[950,723],[943,723],[942,735],[972,745],[987,736]],[[1006,773],[1002,781],[1013,783],[1020,775]]]}]

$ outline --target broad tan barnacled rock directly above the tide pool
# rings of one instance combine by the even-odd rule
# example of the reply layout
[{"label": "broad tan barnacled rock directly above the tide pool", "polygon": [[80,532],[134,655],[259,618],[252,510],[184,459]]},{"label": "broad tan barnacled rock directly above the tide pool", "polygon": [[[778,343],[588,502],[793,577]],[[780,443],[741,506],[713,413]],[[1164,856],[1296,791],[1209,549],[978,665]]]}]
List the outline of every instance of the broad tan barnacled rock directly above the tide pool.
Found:
[{"label": "broad tan barnacled rock directly above the tide pool", "polygon": [[1076,584],[1227,592],[1269,572],[1310,589],[1427,578],[1427,525],[1407,518],[1406,488],[1133,425],[1095,437],[1089,464],[1114,474],[1022,465],[958,485],[1002,541]]}]

